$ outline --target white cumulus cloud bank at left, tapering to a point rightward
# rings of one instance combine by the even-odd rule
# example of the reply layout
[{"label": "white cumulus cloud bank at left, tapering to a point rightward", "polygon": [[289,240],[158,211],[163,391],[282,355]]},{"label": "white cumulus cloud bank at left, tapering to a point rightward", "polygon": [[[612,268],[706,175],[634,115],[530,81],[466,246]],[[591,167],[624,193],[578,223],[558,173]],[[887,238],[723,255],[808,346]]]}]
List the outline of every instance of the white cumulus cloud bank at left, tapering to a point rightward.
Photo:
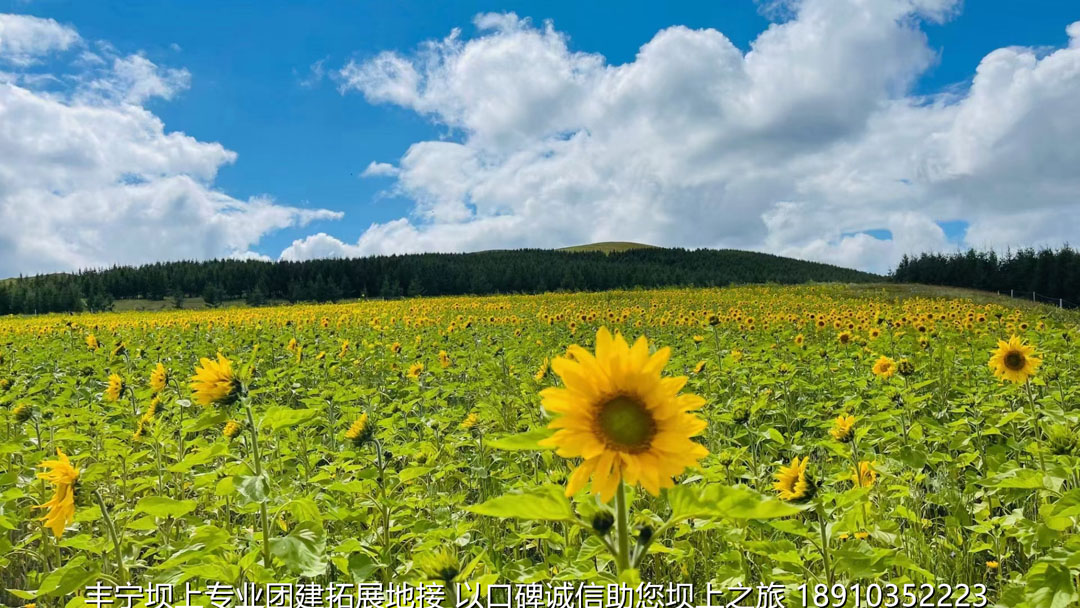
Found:
[{"label": "white cumulus cloud bank at left, tapering to a point rightward", "polygon": [[[10,38],[12,23],[22,24],[16,32],[31,23],[35,36],[52,38],[33,44]],[[73,30],[48,19],[0,15],[0,55],[24,65],[45,52],[73,54],[66,71],[49,78],[16,70],[0,79],[0,276],[248,258],[258,256],[251,248],[269,232],[341,216],[216,189],[218,170],[237,154],[167,132],[143,107],[186,89],[186,70],[120,55],[108,44],[82,44]]]}]

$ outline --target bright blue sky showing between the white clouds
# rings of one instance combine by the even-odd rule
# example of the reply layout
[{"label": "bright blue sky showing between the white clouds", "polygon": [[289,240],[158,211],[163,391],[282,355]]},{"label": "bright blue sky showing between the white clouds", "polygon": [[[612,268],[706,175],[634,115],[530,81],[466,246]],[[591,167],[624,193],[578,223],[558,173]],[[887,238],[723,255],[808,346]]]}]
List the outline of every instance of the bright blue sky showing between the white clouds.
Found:
[{"label": "bright blue sky showing between the white clouds", "polygon": [[[855,0],[836,0],[845,1]],[[168,96],[149,96],[141,102],[141,107],[164,123],[165,133],[183,132],[201,143],[219,143],[238,154],[235,162],[220,165],[208,188],[241,201],[266,194],[282,205],[345,213],[341,219],[315,218],[303,226],[268,230],[248,247],[251,253],[275,258],[295,240],[316,232],[327,232],[348,244],[356,242],[373,222],[381,225],[415,216],[417,200],[423,194],[408,187],[394,188],[397,183],[394,176],[361,177],[368,163],[397,165],[409,146],[417,143],[468,143],[477,138],[476,129],[446,118],[440,113],[442,109],[421,110],[407,103],[374,99],[372,91],[364,89],[369,83],[342,92],[343,80],[338,72],[350,62],[363,66],[388,51],[415,59],[414,53],[419,45],[443,39],[453,28],[461,28],[464,41],[485,36],[510,36],[477,30],[474,17],[490,12],[513,12],[528,18],[527,27],[534,32],[542,29],[545,19],[552,19],[569,52],[602,55],[608,66],[633,63],[643,44],[671,26],[716,29],[745,53],[772,21],[798,18],[795,14],[798,4],[783,16],[769,14],[772,21],[751,0],[675,4],[14,0],[8,2],[8,10],[55,19],[77,30],[87,46],[107,43],[117,56],[140,54],[162,69],[187,70],[186,86],[177,87],[177,92]],[[936,58],[920,65],[915,70],[915,80],[905,84],[903,92],[889,93],[893,99],[897,95],[915,99],[949,91],[962,95],[971,86],[976,67],[997,49],[1028,48],[1042,57],[1054,49],[1067,48],[1066,26],[1080,21],[1080,3],[980,0],[950,6],[943,23],[923,17],[913,18]],[[910,44],[904,40],[901,42]],[[54,62],[63,60],[68,59],[46,58],[27,69],[48,71]],[[522,66],[522,70],[527,72],[528,66]],[[431,75],[424,78],[435,82]],[[550,134],[538,137],[544,136]],[[833,138],[826,144],[835,141]],[[797,198],[795,194],[801,189],[799,186],[789,193],[770,193],[772,199],[768,205],[762,203],[757,208],[760,212],[757,215],[787,213],[784,210],[789,208],[784,205]],[[465,208],[475,212],[477,207],[473,206],[473,201],[477,197],[475,192],[468,194]],[[827,206],[824,201],[808,200],[808,204]],[[792,204],[802,203],[796,200]],[[940,214],[928,215],[934,224],[945,227],[948,243],[962,241],[969,220],[973,220],[957,216],[962,207],[953,202],[943,203],[937,207],[943,210]],[[944,211],[946,208],[949,211]],[[513,212],[491,212],[492,215],[507,213]],[[419,229],[424,225],[423,221],[416,224]],[[801,245],[770,245],[768,235],[744,242],[717,238],[713,242],[693,234],[688,235],[686,242],[679,242],[677,233],[658,237],[648,230],[635,233],[634,229],[629,229],[625,232],[629,232],[624,234],[627,239],[652,237],[664,241],[662,244],[730,243],[793,255],[801,251],[800,257],[834,259],[829,257],[833,254],[824,249],[806,246],[796,251]],[[867,218],[862,225],[848,226],[833,234],[822,246],[837,246],[841,240],[859,233],[890,240],[896,230],[876,226]],[[1035,237],[1036,241],[1041,238]],[[1048,239],[1053,241],[1054,235]],[[446,248],[476,248],[480,246],[476,243],[480,241],[467,240]],[[972,244],[997,246],[1000,243]],[[438,248],[437,245],[432,247]]]}]

